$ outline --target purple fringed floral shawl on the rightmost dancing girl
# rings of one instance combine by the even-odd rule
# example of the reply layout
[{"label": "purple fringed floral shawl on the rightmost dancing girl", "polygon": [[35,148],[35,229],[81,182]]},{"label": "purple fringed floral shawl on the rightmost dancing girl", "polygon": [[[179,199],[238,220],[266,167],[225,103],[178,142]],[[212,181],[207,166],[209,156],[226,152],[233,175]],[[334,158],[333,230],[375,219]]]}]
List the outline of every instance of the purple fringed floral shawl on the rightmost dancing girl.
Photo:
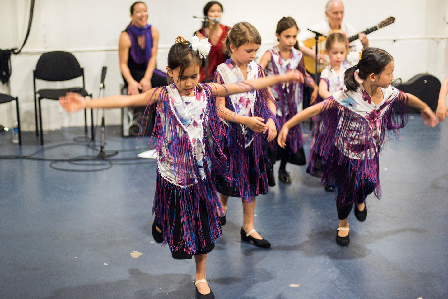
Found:
[{"label": "purple fringed floral shawl on the rightmost dancing girl", "polygon": [[378,105],[363,89],[338,91],[325,100],[318,116],[325,130],[319,131],[312,150],[326,161],[322,183],[334,181],[340,187],[342,200],[351,177],[354,186],[360,187],[355,188],[353,201],[366,184],[375,186],[375,197],[381,197],[379,153],[384,139],[388,141],[392,134],[398,137],[399,129],[408,121],[405,93],[394,87],[382,91],[384,100]]}]

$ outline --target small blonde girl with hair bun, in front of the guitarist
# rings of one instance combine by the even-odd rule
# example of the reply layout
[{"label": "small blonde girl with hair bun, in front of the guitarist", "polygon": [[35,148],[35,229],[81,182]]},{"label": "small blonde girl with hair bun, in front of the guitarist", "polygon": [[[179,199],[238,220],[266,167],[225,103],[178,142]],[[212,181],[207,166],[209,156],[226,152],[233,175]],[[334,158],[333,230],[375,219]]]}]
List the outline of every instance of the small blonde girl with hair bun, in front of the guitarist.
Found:
[{"label": "small blonde girl with hair bun, in front of the guitarist", "polygon": [[[344,89],[344,74],[350,65],[345,62],[345,55],[348,50],[347,37],[341,32],[334,32],[328,35],[325,41],[325,54],[330,58],[330,65],[323,69],[320,74],[319,96],[315,104],[320,103],[323,99],[327,99],[336,91]],[[312,148],[319,130],[325,130],[320,122],[314,121],[314,134],[311,140],[310,163],[306,169],[307,173],[320,178],[323,173],[322,157],[315,153]],[[325,191],[332,192],[335,187],[332,183],[325,185]]]}]

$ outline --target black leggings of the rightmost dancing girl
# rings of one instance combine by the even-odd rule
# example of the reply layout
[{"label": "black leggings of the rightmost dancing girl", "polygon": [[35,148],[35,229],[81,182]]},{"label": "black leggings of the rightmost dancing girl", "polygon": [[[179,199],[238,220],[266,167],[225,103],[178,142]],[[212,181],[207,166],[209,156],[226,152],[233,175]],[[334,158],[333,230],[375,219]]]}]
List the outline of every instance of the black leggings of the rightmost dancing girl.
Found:
[{"label": "black leggings of the rightmost dancing girl", "polygon": [[[367,195],[372,193],[375,189],[375,185],[372,182],[364,180],[364,190],[362,190],[361,186],[355,186],[355,173],[353,172],[350,176],[349,186],[347,187],[347,191],[345,194],[345,198],[342,197],[341,186],[337,186],[338,194],[336,195],[336,208],[337,208],[337,216],[340,220],[343,220],[349,217],[350,211],[352,210],[353,203],[362,204],[365,202]],[[358,188],[358,198],[354,198],[355,188]]]}]

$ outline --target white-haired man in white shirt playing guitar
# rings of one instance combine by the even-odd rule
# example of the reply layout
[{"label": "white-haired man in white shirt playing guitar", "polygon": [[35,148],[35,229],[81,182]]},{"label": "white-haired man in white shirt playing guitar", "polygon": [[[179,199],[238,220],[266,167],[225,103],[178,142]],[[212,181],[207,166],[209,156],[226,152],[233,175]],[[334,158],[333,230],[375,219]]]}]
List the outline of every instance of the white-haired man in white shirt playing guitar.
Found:
[{"label": "white-haired man in white shirt playing guitar", "polygon": [[[341,30],[343,33],[345,33],[345,35],[347,35],[347,38],[358,33],[352,25],[342,21],[342,19],[344,18],[344,4],[341,0],[329,0],[325,5],[325,16],[327,17],[327,20],[314,24],[309,28],[313,31],[322,33],[323,35],[328,35],[333,30]],[[302,30],[301,33],[297,36],[300,51],[302,51],[305,55],[313,57],[313,59],[315,59],[316,57],[315,50],[306,47],[303,42],[307,39],[314,39],[314,37],[315,34],[310,30]],[[359,39],[350,43],[349,46],[349,52],[361,51],[369,47],[369,40],[364,33],[360,33]],[[325,57],[323,56],[323,54],[319,53],[318,62],[322,64],[324,61]]]}]

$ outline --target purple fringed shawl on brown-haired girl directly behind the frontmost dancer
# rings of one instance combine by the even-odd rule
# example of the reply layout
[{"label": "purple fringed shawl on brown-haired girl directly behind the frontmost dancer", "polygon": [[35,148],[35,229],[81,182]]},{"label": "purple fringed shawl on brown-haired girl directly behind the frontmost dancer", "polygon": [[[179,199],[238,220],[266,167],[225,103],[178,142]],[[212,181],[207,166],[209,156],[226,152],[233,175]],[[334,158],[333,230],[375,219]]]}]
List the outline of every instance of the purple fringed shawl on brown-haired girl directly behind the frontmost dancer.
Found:
[{"label": "purple fringed shawl on brown-haired girl directly behind the frontmost dancer", "polygon": [[[225,82],[222,74],[220,73],[224,71],[223,65],[227,65],[229,68],[237,67],[232,58],[229,58],[226,62],[218,66],[218,69],[215,72],[214,82],[220,84],[237,83]],[[256,72],[255,78],[263,77],[263,68],[257,63],[251,62],[248,68],[253,68],[251,69],[251,71]],[[248,71],[248,79],[249,78],[250,75]],[[237,77],[237,80],[241,82],[244,80],[244,78]],[[272,120],[276,122],[276,126],[278,127],[277,119],[267,105],[267,98],[270,98],[271,101],[275,103],[275,100],[270,96],[268,89],[265,88],[261,90],[251,91],[251,93],[255,94],[255,101],[254,103],[250,103],[253,106],[251,109],[251,115],[249,116],[262,117],[265,121],[267,121],[269,118],[272,118]],[[241,95],[241,101],[246,100],[243,94],[238,95]],[[235,104],[232,102],[229,96],[225,97],[225,107],[237,113]],[[241,111],[242,110],[244,110],[244,108],[241,109]],[[225,122],[225,125],[225,138],[223,139],[223,143],[221,144],[223,144],[223,148],[228,148],[228,151],[230,153],[228,176],[233,180],[232,182],[229,182],[229,185],[234,186],[234,190],[238,191],[242,199],[250,202],[252,200],[252,197],[262,193],[262,191],[263,193],[267,193],[268,182],[266,175],[263,175],[263,173],[267,173],[268,167],[271,167],[271,165],[267,163],[267,161],[269,160],[267,159],[267,154],[264,147],[265,135],[262,133],[255,133],[246,126],[234,122]],[[249,140],[247,139],[248,136]],[[251,169],[250,167],[249,151],[253,152],[254,169]],[[255,194],[250,191],[250,173],[255,173],[256,176],[256,186],[252,186],[254,188]],[[263,186],[260,186],[259,179],[263,180]]]}]

